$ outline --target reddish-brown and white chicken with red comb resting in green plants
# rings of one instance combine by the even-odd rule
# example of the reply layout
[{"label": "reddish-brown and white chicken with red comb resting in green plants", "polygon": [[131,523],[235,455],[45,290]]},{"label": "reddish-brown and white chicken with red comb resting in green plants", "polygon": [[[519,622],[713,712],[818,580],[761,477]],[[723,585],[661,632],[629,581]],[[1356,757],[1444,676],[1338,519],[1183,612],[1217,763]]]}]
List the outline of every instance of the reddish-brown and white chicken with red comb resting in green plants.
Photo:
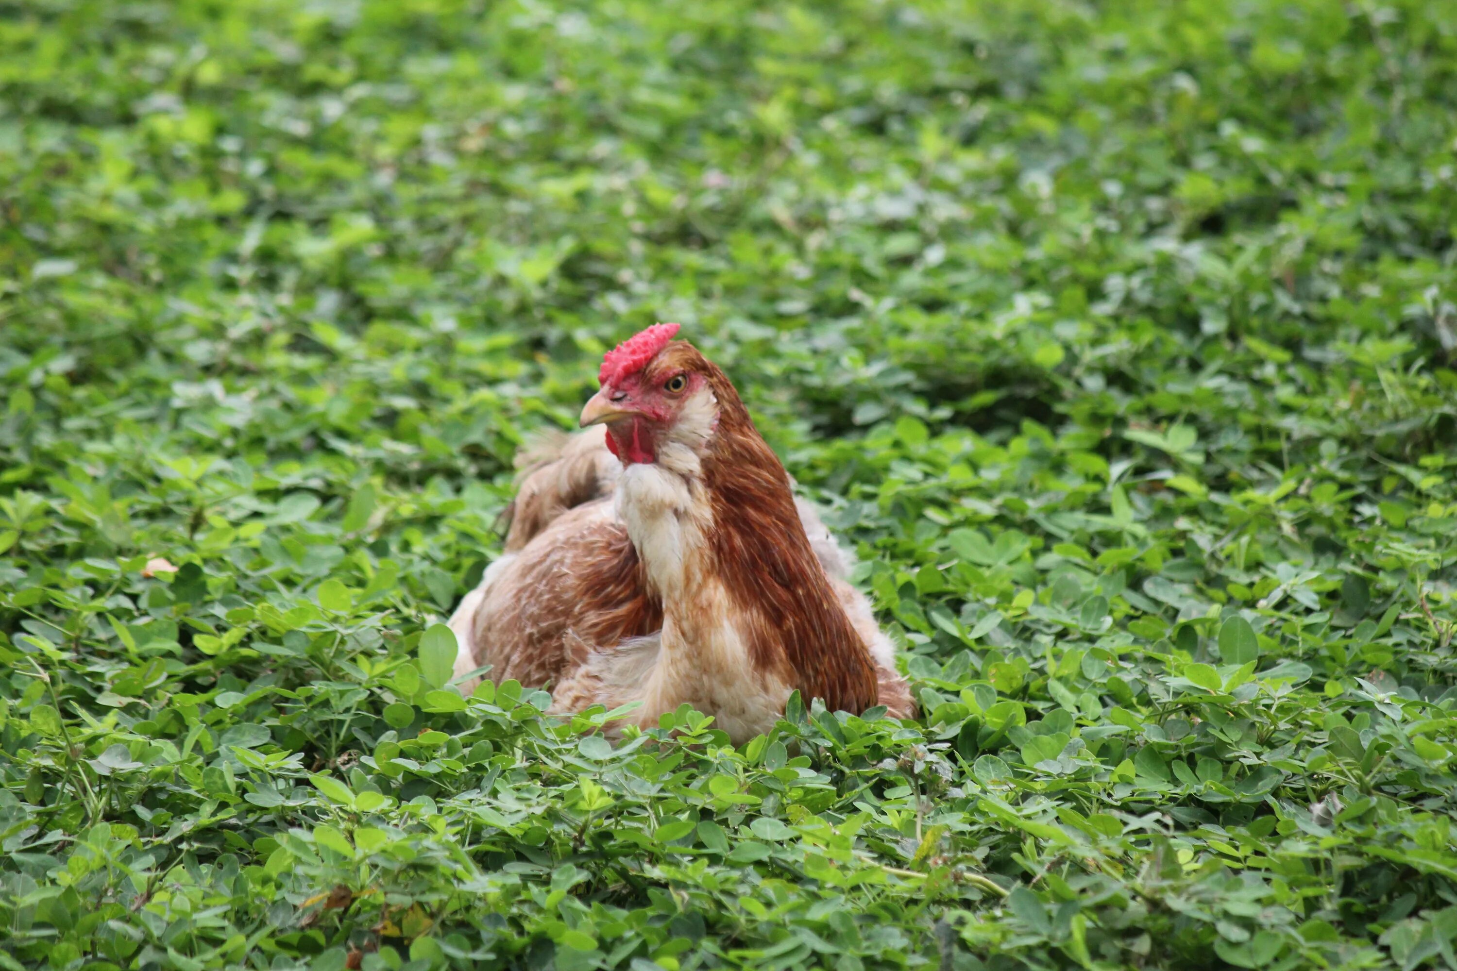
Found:
[{"label": "reddish-brown and white chicken with red comb resting in green plants", "polygon": [[587,431],[522,456],[506,549],[450,619],[456,674],[552,686],[561,713],[641,702],[643,726],[688,703],[736,744],[796,689],[912,716],[848,555],[676,333],[659,323],[609,351]]}]

